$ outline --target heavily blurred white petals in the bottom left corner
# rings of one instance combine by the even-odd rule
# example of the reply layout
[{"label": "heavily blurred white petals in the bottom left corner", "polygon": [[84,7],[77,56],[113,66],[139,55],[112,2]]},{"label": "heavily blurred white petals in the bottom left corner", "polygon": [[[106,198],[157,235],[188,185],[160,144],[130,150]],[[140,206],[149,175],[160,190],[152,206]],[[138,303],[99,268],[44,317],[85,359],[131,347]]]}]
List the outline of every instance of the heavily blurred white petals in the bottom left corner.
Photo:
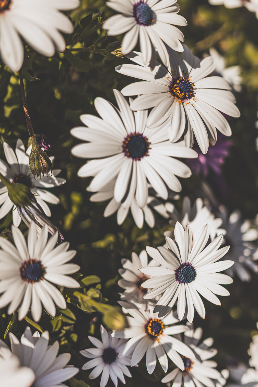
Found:
[{"label": "heavily blurred white petals in the bottom left corner", "polygon": [[35,380],[34,372],[20,364],[5,342],[0,340],[0,378],[4,387],[30,387]]}]

